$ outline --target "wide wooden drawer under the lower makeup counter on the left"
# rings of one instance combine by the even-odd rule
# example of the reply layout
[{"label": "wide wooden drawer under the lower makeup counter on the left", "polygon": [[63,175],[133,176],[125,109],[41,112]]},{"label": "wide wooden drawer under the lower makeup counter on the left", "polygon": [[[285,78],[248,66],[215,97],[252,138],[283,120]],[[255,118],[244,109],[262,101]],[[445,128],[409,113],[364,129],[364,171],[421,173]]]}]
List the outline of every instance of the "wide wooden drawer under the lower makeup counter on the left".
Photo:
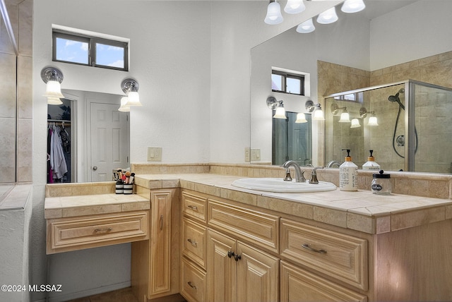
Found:
[{"label": "wide wooden drawer under the lower makeup counter on the left", "polygon": [[148,211],[47,220],[47,253],[148,239]]}]

